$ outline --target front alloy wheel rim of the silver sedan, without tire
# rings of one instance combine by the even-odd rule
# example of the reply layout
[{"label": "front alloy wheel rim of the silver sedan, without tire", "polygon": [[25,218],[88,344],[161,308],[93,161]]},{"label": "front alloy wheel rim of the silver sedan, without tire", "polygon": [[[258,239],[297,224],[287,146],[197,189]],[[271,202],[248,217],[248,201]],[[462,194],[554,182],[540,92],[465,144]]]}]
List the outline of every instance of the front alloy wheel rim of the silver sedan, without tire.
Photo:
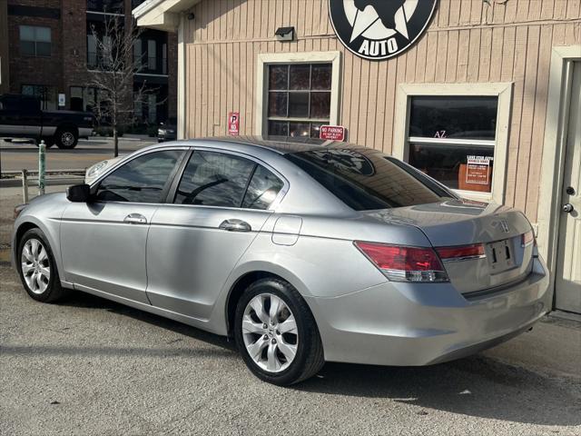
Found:
[{"label": "front alloy wheel rim of the silver sedan, without tire", "polygon": [[35,238],[26,241],[20,261],[28,288],[36,294],[46,291],[51,281],[51,263],[43,243]]}]

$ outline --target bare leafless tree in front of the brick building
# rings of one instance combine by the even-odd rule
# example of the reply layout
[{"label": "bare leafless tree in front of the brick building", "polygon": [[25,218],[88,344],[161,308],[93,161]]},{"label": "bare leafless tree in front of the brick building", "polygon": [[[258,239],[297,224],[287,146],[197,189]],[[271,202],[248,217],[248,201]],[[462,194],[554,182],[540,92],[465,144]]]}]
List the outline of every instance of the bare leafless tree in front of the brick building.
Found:
[{"label": "bare leafless tree in front of the brick building", "polygon": [[[145,82],[133,88],[133,75],[143,68],[143,54],[133,55],[133,46],[139,40],[141,30],[134,24],[126,28],[123,16],[105,15],[103,26],[93,25],[93,54],[89,64],[93,74],[91,85],[97,89],[98,101],[94,114],[100,122],[113,128],[113,154],[119,154],[119,128],[133,124],[135,103],[149,103],[149,95],[155,89],[146,87]],[[159,102],[158,104],[162,104]]]}]

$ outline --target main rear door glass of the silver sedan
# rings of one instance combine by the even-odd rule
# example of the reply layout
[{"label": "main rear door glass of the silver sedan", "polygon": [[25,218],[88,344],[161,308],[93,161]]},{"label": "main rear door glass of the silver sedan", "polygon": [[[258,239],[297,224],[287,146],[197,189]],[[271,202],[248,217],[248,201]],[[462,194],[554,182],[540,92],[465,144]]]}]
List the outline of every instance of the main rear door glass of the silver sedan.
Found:
[{"label": "main rear door glass of the silver sedan", "polygon": [[240,207],[255,166],[231,154],[193,152],[174,203]]}]

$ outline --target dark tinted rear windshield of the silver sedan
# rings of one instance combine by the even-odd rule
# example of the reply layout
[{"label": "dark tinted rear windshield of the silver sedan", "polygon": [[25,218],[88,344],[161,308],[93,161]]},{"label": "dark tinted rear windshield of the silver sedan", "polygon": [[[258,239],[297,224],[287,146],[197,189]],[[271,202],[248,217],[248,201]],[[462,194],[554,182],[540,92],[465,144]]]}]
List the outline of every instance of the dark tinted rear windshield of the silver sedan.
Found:
[{"label": "dark tinted rear windshield of the silver sedan", "polygon": [[356,211],[437,203],[452,196],[405,163],[370,149],[321,149],[287,159]]}]

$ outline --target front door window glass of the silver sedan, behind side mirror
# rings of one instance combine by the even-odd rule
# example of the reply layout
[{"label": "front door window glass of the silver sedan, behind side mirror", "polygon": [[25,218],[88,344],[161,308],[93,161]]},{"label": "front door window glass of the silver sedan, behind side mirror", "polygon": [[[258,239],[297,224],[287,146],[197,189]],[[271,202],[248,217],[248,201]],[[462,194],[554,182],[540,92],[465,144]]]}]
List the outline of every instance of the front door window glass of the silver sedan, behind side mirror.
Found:
[{"label": "front door window glass of the silver sedan, behind side mirror", "polygon": [[97,189],[97,199],[162,203],[170,176],[182,153],[179,150],[166,150],[136,157],[103,179]]}]

